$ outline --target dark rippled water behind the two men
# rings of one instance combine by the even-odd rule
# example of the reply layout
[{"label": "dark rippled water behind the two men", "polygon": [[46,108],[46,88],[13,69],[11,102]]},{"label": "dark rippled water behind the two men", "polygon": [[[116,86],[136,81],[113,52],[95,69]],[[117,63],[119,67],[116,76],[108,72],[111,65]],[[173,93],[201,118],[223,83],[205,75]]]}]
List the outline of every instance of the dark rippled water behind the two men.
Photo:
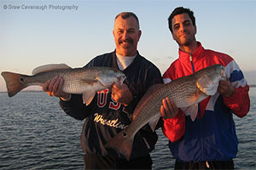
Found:
[{"label": "dark rippled water behind the two men", "polygon": [[[235,117],[239,151],[236,169],[256,168],[256,88],[250,89],[251,110]],[[24,92],[9,98],[0,93],[0,169],[83,169],[79,135],[84,121],[61,111],[58,100],[42,92]],[[168,140],[161,133],[151,153],[153,169],[173,169]]]}]

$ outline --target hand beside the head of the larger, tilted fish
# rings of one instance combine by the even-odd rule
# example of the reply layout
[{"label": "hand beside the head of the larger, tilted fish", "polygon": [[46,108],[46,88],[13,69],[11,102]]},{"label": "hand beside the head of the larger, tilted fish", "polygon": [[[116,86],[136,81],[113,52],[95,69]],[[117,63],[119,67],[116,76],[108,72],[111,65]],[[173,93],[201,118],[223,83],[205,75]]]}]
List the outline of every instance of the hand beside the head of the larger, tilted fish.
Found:
[{"label": "hand beside the head of the larger, tilted fish", "polygon": [[232,87],[231,82],[227,79],[219,82],[217,92],[228,98],[234,94],[235,88]]}]

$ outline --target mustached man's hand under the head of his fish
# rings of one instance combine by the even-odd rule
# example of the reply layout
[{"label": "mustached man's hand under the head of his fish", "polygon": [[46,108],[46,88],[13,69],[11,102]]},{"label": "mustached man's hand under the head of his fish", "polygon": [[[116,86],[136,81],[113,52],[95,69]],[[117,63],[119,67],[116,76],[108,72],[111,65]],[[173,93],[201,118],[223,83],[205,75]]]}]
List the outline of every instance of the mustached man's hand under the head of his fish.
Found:
[{"label": "mustached man's hand under the head of his fish", "polygon": [[127,85],[125,83],[121,84],[116,82],[114,82],[112,85],[111,97],[114,101],[119,102],[125,106],[129,105],[133,99],[131,91]]}]

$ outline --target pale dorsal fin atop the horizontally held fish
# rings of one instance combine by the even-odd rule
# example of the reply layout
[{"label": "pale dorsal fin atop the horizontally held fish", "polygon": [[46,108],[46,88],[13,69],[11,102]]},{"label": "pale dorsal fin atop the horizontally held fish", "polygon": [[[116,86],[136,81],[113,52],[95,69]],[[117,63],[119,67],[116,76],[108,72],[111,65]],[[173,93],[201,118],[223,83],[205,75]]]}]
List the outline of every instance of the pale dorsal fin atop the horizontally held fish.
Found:
[{"label": "pale dorsal fin atop the horizontally held fish", "polygon": [[66,64],[49,64],[49,65],[41,65],[35,68],[32,71],[32,75],[36,75],[39,72],[44,72],[44,71],[55,71],[55,70],[60,70],[60,69],[71,69],[70,66]]}]

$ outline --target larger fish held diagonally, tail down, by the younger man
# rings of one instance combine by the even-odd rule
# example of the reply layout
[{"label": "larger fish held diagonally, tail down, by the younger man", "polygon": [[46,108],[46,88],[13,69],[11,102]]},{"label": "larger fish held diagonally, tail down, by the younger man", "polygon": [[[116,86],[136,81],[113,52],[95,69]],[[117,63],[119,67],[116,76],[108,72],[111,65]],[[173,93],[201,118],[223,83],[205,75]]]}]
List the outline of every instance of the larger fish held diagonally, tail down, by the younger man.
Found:
[{"label": "larger fish held diagonally, tail down, by the younger man", "polygon": [[156,84],[149,88],[138,103],[133,121],[129,127],[118,133],[105,144],[130,159],[133,138],[140,128],[149,124],[152,130],[160,118],[162,99],[168,97],[194,121],[198,111],[198,103],[217,92],[218,82],[225,79],[224,67],[212,65],[187,77],[178,78],[166,84]]}]

